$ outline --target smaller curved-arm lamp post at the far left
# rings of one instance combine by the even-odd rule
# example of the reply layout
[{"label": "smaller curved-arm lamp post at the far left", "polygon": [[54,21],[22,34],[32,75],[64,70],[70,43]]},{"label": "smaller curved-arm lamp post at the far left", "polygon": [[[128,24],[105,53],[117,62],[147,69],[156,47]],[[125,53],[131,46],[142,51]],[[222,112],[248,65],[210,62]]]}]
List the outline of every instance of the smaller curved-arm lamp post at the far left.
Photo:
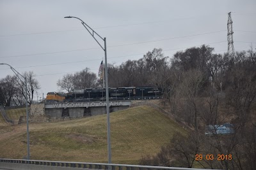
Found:
[{"label": "smaller curved-arm lamp post at the far left", "polygon": [[[1,65],[7,65],[9,66],[13,73],[15,73],[15,75],[19,78],[19,75],[22,76],[22,74],[20,74],[16,69],[14,69],[12,66],[10,66],[9,64],[4,64],[4,63],[0,63]],[[27,78],[22,76],[22,78],[24,78],[25,83],[19,78],[19,80],[23,83],[23,85],[25,85],[25,90],[26,90],[26,121],[27,121],[27,150],[28,150],[28,157],[27,159],[30,159],[30,152],[29,152],[29,128],[28,128],[28,86],[27,86]]]}]

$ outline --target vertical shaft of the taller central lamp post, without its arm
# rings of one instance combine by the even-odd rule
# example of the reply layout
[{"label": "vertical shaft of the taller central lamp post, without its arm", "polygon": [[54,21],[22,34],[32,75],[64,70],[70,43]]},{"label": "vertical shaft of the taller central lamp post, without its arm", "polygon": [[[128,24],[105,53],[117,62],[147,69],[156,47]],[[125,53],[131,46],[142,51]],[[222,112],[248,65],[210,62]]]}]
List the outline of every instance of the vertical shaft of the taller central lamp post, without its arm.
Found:
[{"label": "vertical shaft of the taller central lamp post, without its arm", "polygon": [[[108,131],[108,163],[111,164],[111,140],[110,140],[110,118],[109,118],[109,93],[108,93],[108,61],[107,61],[107,45],[104,38],[105,47],[105,78],[106,78],[106,110],[107,110],[107,131]],[[111,169],[111,167],[108,167]]]}]

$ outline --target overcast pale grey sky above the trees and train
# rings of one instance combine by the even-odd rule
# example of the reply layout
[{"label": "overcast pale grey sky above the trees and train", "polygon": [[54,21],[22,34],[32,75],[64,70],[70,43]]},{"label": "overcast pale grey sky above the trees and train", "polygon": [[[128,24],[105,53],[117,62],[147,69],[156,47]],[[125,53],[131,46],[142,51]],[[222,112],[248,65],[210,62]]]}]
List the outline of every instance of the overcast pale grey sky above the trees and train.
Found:
[{"label": "overcast pale grey sky above the trees and train", "polygon": [[[140,59],[153,48],[163,48],[169,57],[203,44],[216,53],[227,52],[230,11],[234,48],[248,50],[250,42],[256,46],[255,9],[255,0],[0,0],[0,63],[20,73],[33,71],[42,97],[59,90],[56,81],[65,73],[85,67],[97,73],[104,57],[81,22],[65,16],[81,18],[106,37],[108,62],[119,65]],[[7,74],[12,70],[0,65],[0,78]]]}]

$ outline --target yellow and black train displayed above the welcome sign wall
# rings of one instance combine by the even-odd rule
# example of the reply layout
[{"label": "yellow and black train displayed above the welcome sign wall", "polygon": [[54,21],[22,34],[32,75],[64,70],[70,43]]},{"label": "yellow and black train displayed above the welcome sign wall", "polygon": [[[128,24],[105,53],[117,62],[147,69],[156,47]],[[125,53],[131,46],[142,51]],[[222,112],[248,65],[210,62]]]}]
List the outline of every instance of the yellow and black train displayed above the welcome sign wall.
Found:
[{"label": "yellow and black train displayed above the welcome sign wall", "polygon": [[[160,99],[163,96],[163,89],[156,87],[118,87],[109,88],[109,100],[141,100]],[[83,89],[74,90],[67,94],[49,92],[46,96],[47,102],[86,102],[106,101],[106,89]]]}]

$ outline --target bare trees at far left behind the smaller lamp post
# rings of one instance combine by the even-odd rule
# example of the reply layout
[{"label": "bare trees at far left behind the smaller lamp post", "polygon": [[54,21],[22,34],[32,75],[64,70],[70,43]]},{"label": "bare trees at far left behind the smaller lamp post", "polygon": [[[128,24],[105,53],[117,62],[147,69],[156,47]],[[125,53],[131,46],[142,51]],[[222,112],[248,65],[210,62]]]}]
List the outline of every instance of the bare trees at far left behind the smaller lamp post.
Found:
[{"label": "bare trees at far left behind the smaller lamp post", "polygon": [[[38,81],[35,79],[33,71],[25,72],[22,76],[26,77],[28,84],[28,104],[33,103],[33,97],[40,89]],[[21,79],[21,80],[20,80]],[[2,106],[21,106],[26,104],[26,89],[22,77],[7,75],[0,80],[0,105]]]}]

